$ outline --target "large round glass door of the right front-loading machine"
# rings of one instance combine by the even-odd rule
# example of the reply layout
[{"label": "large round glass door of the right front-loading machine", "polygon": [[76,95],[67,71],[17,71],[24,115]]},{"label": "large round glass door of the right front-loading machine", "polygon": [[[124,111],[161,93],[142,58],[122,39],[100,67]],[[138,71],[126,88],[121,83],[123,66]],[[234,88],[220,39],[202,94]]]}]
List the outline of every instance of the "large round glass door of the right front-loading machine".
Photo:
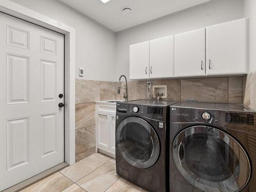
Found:
[{"label": "large round glass door of the right front-loading machine", "polygon": [[239,191],[249,181],[244,148],[218,129],[188,127],[176,136],[172,150],[181,175],[203,191]]}]

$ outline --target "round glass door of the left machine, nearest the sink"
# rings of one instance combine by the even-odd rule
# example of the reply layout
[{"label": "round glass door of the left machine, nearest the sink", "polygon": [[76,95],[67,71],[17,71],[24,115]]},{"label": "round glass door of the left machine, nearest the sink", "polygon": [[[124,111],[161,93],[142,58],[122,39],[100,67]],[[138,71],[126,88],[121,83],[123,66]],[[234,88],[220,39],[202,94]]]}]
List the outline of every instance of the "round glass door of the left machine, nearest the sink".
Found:
[{"label": "round glass door of the left machine, nearest the sink", "polygon": [[116,143],[122,157],[138,168],[152,166],[159,155],[159,141],[153,127],[139,117],[128,117],[118,126]]}]

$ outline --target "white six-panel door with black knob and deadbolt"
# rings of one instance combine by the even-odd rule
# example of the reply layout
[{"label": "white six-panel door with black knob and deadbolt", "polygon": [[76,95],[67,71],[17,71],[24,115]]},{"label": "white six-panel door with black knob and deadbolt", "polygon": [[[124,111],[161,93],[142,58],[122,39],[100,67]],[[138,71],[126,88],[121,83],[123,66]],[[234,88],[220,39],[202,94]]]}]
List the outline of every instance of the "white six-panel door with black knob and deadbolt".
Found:
[{"label": "white six-panel door with black knob and deadbolt", "polygon": [[0,191],[64,161],[64,36],[0,13]]}]

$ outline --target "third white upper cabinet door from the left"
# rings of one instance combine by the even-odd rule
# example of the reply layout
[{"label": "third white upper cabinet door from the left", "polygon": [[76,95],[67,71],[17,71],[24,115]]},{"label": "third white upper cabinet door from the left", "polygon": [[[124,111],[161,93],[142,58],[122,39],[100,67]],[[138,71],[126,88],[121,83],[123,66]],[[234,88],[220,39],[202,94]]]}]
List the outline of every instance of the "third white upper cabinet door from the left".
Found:
[{"label": "third white upper cabinet door from the left", "polygon": [[175,35],[175,77],[205,76],[205,28]]}]

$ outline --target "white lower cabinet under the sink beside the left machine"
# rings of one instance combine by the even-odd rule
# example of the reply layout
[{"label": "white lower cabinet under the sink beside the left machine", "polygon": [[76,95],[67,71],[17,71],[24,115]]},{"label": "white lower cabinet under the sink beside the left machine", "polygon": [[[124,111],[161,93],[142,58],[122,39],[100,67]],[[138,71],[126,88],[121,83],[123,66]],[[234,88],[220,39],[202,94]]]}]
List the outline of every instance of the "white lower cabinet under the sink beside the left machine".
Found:
[{"label": "white lower cabinet under the sink beside the left machine", "polygon": [[115,157],[116,103],[96,102],[96,152]]}]

